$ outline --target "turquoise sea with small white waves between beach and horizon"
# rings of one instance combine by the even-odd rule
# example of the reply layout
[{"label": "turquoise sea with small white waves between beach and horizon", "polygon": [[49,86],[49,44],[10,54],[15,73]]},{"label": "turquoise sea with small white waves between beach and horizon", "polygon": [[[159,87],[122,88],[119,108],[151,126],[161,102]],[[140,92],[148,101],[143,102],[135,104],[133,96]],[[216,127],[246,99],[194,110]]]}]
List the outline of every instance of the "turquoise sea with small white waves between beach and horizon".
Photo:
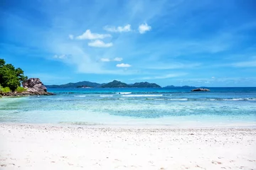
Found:
[{"label": "turquoise sea with small white waves between beach and horizon", "polygon": [[256,88],[48,89],[0,98],[0,121],[82,125],[256,125]]}]

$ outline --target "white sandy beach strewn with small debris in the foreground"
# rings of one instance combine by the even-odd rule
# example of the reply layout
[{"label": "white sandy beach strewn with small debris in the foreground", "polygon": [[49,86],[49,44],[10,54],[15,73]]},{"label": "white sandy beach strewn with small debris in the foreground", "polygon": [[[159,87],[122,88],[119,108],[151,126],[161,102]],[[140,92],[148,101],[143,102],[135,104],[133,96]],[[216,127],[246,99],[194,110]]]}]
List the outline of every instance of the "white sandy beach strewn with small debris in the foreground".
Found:
[{"label": "white sandy beach strewn with small debris in the foreground", "polygon": [[0,124],[0,169],[256,169],[255,128]]}]

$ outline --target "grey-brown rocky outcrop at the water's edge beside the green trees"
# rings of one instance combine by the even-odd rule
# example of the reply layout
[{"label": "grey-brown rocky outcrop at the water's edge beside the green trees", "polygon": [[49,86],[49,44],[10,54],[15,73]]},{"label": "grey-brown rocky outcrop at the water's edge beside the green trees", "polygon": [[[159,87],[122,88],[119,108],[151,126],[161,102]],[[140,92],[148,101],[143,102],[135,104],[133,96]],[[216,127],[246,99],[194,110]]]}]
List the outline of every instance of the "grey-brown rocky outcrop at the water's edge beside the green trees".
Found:
[{"label": "grey-brown rocky outcrop at the water's edge beside the green trees", "polygon": [[53,93],[50,93],[47,91],[46,86],[43,85],[42,81],[38,78],[30,78],[26,81],[22,82],[22,86],[26,91],[22,92],[9,92],[0,94],[1,96],[37,96],[37,95],[54,95]]}]

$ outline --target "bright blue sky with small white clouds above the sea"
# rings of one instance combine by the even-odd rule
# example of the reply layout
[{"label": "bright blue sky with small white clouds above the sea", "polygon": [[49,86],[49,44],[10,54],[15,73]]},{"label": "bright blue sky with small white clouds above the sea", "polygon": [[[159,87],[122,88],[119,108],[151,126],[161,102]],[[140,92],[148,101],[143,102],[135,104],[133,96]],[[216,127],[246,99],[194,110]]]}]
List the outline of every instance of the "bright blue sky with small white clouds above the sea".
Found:
[{"label": "bright blue sky with small white clouds above the sea", "polygon": [[0,58],[44,84],[256,86],[255,8],[255,0],[4,0]]}]

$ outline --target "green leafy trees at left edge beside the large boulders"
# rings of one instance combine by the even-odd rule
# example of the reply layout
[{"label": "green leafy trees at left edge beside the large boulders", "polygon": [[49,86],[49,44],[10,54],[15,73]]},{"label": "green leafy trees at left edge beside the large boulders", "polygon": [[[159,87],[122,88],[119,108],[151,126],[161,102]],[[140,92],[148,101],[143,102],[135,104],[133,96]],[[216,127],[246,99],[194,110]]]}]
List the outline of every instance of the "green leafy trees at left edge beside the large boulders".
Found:
[{"label": "green leafy trees at left edge beside the large boulders", "polygon": [[6,64],[3,59],[0,59],[0,84],[4,87],[9,87],[14,91],[21,85],[21,81],[25,81],[28,77],[23,75],[21,68],[15,69],[12,64]]}]

